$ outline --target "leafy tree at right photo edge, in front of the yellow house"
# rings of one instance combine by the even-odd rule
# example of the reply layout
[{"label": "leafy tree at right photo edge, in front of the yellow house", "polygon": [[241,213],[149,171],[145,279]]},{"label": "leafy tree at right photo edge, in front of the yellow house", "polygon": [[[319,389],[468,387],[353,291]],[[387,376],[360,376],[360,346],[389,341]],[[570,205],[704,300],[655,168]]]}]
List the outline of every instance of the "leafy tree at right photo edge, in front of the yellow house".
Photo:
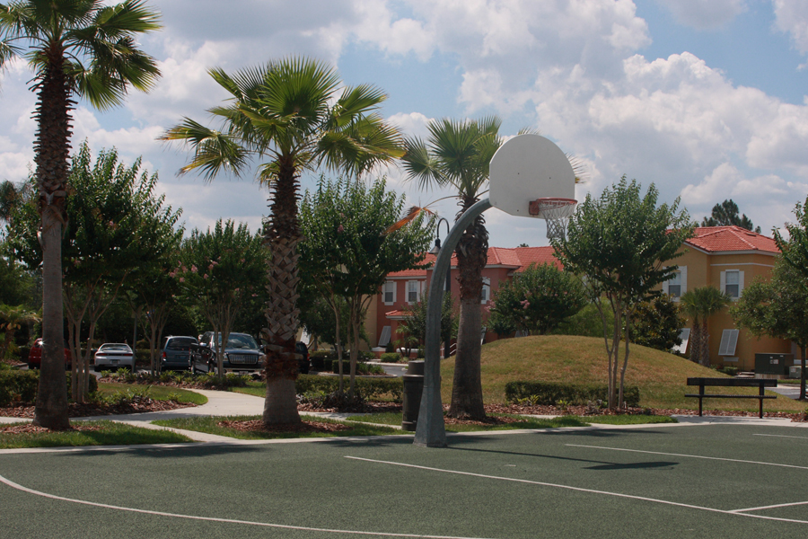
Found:
[{"label": "leafy tree at right photo edge, in front of the yellow house", "polygon": [[800,347],[800,400],[805,400],[805,349],[808,348],[808,280],[786,261],[775,263],[771,280],[755,279],[730,308],[738,326],[753,335],[792,340]]}]

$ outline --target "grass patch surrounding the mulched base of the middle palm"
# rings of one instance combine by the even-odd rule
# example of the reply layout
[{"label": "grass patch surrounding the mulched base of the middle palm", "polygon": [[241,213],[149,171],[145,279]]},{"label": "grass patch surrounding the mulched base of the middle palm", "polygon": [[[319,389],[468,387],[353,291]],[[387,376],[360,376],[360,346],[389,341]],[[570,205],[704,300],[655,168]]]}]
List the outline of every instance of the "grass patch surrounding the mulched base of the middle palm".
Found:
[{"label": "grass patch surrounding the mulched base of the middle palm", "polygon": [[297,438],[297,437],[352,437],[352,436],[391,436],[400,435],[402,432],[398,429],[389,429],[387,427],[376,427],[373,425],[362,425],[357,423],[344,423],[341,421],[328,420],[325,418],[314,418],[302,416],[303,420],[317,420],[321,423],[335,423],[349,426],[351,429],[339,430],[336,432],[245,432],[238,429],[228,429],[221,427],[218,423],[222,420],[260,420],[260,416],[234,416],[234,417],[198,417],[177,420],[156,420],[152,421],[155,425],[162,427],[172,427],[174,429],[196,430],[198,432],[206,432],[208,434],[216,434],[218,436],[234,437],[242,440],[256,440],[256,439],[279,439],[279,438]]}]

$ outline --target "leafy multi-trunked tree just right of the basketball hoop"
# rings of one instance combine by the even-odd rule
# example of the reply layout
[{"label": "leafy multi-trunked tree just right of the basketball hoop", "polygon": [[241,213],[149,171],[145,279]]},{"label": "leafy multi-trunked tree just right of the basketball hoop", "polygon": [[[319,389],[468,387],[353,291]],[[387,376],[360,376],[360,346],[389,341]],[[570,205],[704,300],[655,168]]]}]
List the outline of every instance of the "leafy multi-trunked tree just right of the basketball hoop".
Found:
[{"label": "leafy multi-trunked tree just right of the basketball hoop", "polygon": [[[628,182],[623,176],[603,190],[599,199],[587,195],[570,219],[566,240],[552,241],[558,260],[566,270],[584,278],[601,313],[610,408],[623,402],[631,319],[637,304],[671,278],[678,266],[667,262],[681,256],[677,252],[681,243],[693,234],[687,210],[677,213],[679,199],[657,207],[658,197],[654,184],[643,197],[637,181]],[[605,309],[604,304],[608,305]],[[606,324],[608,310],[614,313],[611,327]],[[620,365],[619,345],[624,335]]]}]

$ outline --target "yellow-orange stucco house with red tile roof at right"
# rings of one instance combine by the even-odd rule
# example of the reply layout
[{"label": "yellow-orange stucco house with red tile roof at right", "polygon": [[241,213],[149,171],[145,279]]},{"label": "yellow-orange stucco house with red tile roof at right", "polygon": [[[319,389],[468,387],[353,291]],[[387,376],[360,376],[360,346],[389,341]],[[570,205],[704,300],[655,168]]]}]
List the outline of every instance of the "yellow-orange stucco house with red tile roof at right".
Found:
[{"label": "yellow-orange stucco house with red tile roof at right", "polygon": [[[724,290],[733,301],[743,295],[743,287],[755,278],[768,279],[780,251],[772,238],[750,232],[740,226],[707,226],[696,229],[695,236],[685,242],[676,275],[663,283],[663,292],[674,301],[689,289],[712,285]],[[688,321],[692,329],[692,321]],[[742,371],[755,368],[755,354],[793,354],[790,340],[755,337],[738,329],[727,309],[707,320],[710,336],[710,363],[716,367],[738,367]],[[682,337],[688,337],[683,331]],[[682,342],[680,350],[687,349]],[[795,354],[798,358],[799,354]]]}]

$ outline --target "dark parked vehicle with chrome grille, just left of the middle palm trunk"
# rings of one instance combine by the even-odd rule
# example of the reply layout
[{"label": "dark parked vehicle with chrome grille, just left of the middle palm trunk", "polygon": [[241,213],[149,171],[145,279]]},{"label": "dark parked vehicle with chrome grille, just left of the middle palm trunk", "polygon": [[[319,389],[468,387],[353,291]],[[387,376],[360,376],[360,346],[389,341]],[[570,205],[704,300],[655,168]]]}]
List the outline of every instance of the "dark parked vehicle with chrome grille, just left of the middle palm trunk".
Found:
[{"label": "dark parked vehicle with chrome grille, just left of the middle palm trunk", "polygon": [[[191,372],[216,372],[216,349],[222,336],[214,340],[214,332],[206,331],[197,345],[190,345]],[[247,333],[231,333],[224,347],[224,372],[254,373],[263,368],[263,353]]]}]

